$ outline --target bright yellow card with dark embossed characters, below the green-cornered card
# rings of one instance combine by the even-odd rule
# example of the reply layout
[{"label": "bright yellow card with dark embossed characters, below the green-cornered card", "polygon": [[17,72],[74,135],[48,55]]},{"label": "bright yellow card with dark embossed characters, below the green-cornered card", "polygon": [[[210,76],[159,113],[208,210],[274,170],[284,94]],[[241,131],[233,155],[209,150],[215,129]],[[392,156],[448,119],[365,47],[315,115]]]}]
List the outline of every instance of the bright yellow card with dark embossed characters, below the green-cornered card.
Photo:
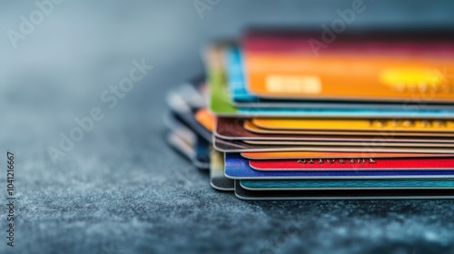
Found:
[{"label": "bright yellow card with dark embossed characters, below the green-cornered card", "polygon": [[254,118],[262,129],[355,132],[454,132],[454,120]]}]

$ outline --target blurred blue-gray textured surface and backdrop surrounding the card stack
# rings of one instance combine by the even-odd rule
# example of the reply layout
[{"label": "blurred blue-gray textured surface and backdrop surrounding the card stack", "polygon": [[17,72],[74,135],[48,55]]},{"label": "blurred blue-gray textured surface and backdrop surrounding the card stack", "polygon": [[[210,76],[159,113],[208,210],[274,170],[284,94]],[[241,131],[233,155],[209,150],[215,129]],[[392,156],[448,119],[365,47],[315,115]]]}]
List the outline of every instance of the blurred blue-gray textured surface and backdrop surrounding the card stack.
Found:
[{"label": "blurred blue-gray textured surface and backdrop surrounding the card stack", "polygon": [[[202,0],[202,2],[205,2]],[[454,201],[237,200],[163,138],[164,94],[201,73],[202,46],[249,24],[330,24],[345,1],[221,0],[198,15],[191,0],[73,1],[55,5],[11,44],[33,1],[0,5],[0,197],[15,151],[15,248],[0,253],[427,253],[454,252]],[[364,1],[355,26],[454,24],[452,1]],[[110,110],[100,94],[134,59],[154,66]],[[74,117],[105,118],[54,164]]]}]

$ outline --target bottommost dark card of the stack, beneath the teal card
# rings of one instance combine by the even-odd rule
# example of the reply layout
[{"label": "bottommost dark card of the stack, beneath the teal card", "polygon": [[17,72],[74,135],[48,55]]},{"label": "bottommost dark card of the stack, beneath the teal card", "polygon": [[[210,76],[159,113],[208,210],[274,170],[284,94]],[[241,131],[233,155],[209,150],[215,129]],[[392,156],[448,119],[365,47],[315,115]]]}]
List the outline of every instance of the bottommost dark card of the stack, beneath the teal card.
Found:
[{"label": "bottommost dark card of the stack, beneath the teal card", "polygon": [[246,190],[236,180],[235,196],[242,200],[433,200],[454,199],[454,190]]}]

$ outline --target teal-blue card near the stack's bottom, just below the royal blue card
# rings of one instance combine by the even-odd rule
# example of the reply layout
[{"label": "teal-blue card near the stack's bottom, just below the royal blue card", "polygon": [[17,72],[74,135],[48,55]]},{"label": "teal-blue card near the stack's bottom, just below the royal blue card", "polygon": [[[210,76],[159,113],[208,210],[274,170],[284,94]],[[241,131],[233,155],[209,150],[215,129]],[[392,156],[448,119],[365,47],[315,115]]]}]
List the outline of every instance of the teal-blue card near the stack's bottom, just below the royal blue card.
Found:
[{"label": "teal-blue card near the stack's bottom, just below the royal blue card", "polygon": [[242,180],[251,190],[454,189],[454,179]]}]

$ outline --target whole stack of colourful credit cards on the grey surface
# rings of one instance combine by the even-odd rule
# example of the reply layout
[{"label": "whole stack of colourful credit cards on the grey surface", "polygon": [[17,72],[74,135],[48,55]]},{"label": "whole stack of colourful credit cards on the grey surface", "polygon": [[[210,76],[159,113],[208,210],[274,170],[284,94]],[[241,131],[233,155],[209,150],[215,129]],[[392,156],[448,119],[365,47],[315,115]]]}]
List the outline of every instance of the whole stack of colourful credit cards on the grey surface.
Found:
[{"label": "whole stack of colourful credit cards on the grey surface", "polygon": [[206,74],[168,95],[168,141],[245,200],[454,198],[448,35],[211,44]]}]

